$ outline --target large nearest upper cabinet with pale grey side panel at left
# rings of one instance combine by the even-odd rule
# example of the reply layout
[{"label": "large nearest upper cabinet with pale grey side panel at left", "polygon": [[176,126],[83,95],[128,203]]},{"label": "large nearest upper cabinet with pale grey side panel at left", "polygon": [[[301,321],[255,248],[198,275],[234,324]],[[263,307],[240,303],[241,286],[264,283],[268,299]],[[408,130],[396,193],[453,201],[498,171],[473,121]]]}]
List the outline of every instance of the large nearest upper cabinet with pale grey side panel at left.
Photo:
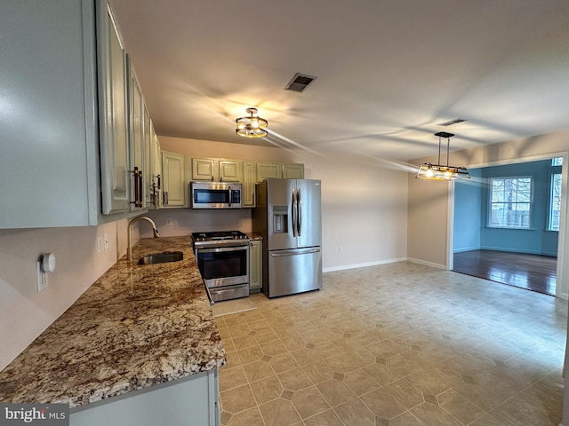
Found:
[{"label": "large nearest upper cabinet with pale grey side panel at left", "polygon": [[129,209],[124,48],[108,4],[4,2],[0,39],[0,228],[108,220],[99,141],[117,159],[108,211]]}]

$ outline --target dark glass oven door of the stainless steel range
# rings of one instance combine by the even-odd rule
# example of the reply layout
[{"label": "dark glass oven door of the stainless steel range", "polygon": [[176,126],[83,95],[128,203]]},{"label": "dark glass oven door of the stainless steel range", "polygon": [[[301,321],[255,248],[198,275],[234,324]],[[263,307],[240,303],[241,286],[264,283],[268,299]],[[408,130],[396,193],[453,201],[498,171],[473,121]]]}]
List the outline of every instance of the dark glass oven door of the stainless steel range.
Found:
[{"label": "dark glass oven door of the stainless steel range", "polygon": [[249,245],[196,248],[199,271],[209,288],[249,283]]}]

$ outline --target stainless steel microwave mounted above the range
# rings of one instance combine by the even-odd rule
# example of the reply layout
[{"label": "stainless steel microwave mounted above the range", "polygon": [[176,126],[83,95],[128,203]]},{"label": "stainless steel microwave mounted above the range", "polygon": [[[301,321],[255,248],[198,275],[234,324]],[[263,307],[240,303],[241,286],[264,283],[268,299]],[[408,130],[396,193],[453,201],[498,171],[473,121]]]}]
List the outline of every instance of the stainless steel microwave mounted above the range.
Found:
[{"label": "stainless steel microwave mounted above the range", "polygon": [[191,182],[192,209],[241,209],[239,182]]}]

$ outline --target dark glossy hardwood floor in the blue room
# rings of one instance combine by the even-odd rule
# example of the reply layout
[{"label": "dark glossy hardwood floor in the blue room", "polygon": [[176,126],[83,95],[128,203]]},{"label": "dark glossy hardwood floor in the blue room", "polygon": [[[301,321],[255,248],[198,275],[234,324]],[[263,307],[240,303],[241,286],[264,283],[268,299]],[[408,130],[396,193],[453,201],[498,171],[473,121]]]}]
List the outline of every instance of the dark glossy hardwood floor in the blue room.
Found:
[{"label": "dark glossy hardwood floor in the blue room", "polygon": [[557,257],[493,250],[454,253],[454,272],[555,296]]}]

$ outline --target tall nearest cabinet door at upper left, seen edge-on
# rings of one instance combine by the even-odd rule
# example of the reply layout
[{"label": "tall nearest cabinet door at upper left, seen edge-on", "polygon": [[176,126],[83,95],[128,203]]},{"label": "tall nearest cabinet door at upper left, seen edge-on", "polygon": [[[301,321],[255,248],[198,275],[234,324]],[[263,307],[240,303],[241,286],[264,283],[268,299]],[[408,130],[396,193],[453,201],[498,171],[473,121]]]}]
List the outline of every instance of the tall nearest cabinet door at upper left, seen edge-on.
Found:
[{"label": "tall nearest cabinet door at upper left, seen edge-on", "polygon": [[126,55],[110,5],[97,5],[102,210],[109,214],[131,202]]}]

